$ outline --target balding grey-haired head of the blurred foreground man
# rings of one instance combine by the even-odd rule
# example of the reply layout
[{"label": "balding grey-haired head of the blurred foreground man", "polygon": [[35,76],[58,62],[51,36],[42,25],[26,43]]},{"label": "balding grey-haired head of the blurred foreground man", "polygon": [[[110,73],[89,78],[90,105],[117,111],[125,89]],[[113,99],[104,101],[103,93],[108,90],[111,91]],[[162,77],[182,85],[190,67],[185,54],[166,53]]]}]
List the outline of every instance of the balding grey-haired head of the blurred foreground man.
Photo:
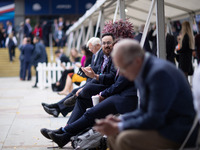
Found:
[{"label": "balding grey-haired head of the blurred foreground man", "polygon": [[123,39],[115,44],[111,56],[121,75],[133,81],[143,64],[144,50],[137,41]]}]

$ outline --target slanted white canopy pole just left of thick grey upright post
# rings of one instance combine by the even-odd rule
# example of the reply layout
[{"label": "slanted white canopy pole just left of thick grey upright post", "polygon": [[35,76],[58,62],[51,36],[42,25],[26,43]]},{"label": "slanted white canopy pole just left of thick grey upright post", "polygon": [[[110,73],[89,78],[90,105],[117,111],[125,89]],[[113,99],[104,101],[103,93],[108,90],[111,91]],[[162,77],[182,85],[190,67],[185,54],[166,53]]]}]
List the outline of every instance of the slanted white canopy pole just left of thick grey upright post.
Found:
[{"label": "slanted white canopy pole just left of thick grey upright post", "polygon": [[152,2],[151,2],[151,7],[149,9],[148,17],[147,17],[147,20],[146,20],[146,23],[145,23],[145,27],[144,27],[144,31],[143,31],[143,34],[142,34],[142,38],[141,38],[141,41],[140,41],[140,46],[141,47],[144,46],[144,42],[145,42],[145,39],[146,39],[146,36],[147,36],[147,32],[148,32],[148,29],[149,29],[149,25],[150,25],[151,16],[153,14],[153,9],[155,7],[155,2],[156,2],[156,0],[152,0]]}]

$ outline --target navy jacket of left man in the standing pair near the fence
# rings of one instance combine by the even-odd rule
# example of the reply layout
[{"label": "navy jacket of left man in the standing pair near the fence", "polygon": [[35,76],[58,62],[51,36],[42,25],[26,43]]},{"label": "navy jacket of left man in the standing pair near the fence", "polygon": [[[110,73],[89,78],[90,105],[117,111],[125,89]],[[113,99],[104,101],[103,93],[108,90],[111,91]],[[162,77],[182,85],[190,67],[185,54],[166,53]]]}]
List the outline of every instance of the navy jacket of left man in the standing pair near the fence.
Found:
[{"label": "navy jacket of left man in the standing pair near the fence", "polygon": [[22,54],[24,55],[24,62],[31,62],[34,46],[32,44],[26,44],[22,48]]}]

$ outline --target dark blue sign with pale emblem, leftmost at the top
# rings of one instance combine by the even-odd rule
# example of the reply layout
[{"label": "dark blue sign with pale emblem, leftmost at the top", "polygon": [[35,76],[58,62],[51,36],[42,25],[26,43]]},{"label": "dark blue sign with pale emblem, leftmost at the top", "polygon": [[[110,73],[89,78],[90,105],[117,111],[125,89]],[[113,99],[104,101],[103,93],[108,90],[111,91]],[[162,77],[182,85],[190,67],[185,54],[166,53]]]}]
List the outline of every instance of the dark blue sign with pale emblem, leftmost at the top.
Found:
[{"label": "dark blue sign with pale emblem, leftmost at the top", "polygon": [[25,0],[25,14],[49,14],[49,0]]}]

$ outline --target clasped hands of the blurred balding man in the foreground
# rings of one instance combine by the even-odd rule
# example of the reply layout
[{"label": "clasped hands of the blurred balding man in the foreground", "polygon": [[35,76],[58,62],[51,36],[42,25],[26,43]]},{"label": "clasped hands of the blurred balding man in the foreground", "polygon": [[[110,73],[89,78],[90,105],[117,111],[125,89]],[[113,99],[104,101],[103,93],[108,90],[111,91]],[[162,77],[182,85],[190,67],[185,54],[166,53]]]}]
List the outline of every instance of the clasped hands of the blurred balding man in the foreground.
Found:
[{"label": "clasped hands of the blurred balding man in the foreground", "polygon": [[93,127],[94,130],[100,132],[103,135],[115,136],[119,133],[118,122],[109,119],[96,120],[96,124]]}]

